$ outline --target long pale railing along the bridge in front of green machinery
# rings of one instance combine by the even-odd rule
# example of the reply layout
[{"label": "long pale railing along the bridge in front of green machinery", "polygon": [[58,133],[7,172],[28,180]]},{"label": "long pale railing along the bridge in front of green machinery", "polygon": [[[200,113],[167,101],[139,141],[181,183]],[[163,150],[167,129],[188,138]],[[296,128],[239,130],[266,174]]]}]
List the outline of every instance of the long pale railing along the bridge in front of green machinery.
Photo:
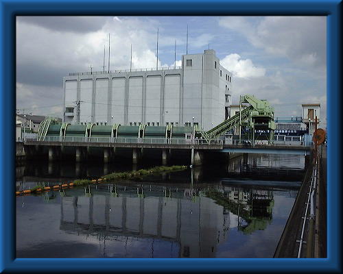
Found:
[{"label": "long pale railing along the bridge in front of green machinery", "polygon": [[[26,140],[37,140],[37,138],[26,138]],[[258,147],[259,145],[285,145],[311,147],[313,142],[304,142],[296,138],[291,140],[210,140],[185,139],[185,138],[125,138],[125,137],[83,137],[83,136],[46,136],[47,142],[108,142],[119,144],[169,144],[169,145],[240,145],[246,147]]]}]

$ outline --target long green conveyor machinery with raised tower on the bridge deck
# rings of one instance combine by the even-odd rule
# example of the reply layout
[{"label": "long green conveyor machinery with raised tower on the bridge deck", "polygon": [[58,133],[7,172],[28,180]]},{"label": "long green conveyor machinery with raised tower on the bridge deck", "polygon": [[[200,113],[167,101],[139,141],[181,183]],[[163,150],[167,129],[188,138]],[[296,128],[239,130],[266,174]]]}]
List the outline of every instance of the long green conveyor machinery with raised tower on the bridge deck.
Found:
[{"label": "long green conveyor machinery with raised tower on the bridge deck", "polygon": [[[248,103],[249,105],[243,105]],[[66,137],[111,137],[111,138],[191,138],[196,136],[211,142],[224,135],[230,129],[239,126],[239,139],[241,139],[241,127],[246,126],[250,131],[249,139],[255,140],[255,130],[268,132],[272,140],[274,129],[274,108],[268,101],[260,100],[253,95],[241,95],[239,98],[239,112],[226,119],[224,122],[205,132],[196,126],[179,127],[168,124],[167,126],[130,126],[130,125],[72,125],[71,123],[58,123],[56,119],[48,118],[38,127],[38,140],[45,140],[45,136]]]}]

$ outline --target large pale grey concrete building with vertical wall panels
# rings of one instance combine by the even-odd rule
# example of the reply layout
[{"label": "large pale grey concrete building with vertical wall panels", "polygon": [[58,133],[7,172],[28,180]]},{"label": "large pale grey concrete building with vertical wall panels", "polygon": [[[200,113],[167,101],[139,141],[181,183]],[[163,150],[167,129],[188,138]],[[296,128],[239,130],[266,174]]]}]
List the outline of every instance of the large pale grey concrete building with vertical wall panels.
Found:
[{"label": "large pale grey concrete building with vertical wall panels", "polygon": [[182,55],[182,66],[70,73],[64,77],[64,122],[199,125],[226,118],[232,73],[214,50]]}]

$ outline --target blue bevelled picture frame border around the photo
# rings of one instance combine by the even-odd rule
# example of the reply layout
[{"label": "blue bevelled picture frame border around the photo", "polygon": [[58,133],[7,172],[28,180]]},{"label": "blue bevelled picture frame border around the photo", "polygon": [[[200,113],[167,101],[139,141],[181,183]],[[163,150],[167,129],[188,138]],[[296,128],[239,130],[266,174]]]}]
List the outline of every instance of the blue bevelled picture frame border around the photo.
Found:
[{"label": "blue bevelled picture frame border around the photo", "polygon": [[[340,10],[341,1],[42,1],[0,0],[0,271],[263,271],[340,272]],[[327,16],[327,256],[324,259],[16,259],[15,16],[16,15],[320,15]],[[299,102],[300,103],[300,102]],[[29,229],[29,228],[28,228]],[[20,240],[20,239],[19,239]]]}]

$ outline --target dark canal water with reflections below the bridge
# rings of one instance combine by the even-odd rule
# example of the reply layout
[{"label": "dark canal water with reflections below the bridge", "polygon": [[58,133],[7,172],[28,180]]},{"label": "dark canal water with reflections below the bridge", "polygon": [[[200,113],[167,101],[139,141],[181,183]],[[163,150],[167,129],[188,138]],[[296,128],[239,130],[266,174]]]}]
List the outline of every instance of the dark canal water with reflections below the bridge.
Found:
[{"label": "dark canal water with reflections below the bridge", "polygon": [[[16,189],[150,165],[27,162]],[[251,154],[16,197],[16,258],[272,258],[303,175],[304,156]]]}]

